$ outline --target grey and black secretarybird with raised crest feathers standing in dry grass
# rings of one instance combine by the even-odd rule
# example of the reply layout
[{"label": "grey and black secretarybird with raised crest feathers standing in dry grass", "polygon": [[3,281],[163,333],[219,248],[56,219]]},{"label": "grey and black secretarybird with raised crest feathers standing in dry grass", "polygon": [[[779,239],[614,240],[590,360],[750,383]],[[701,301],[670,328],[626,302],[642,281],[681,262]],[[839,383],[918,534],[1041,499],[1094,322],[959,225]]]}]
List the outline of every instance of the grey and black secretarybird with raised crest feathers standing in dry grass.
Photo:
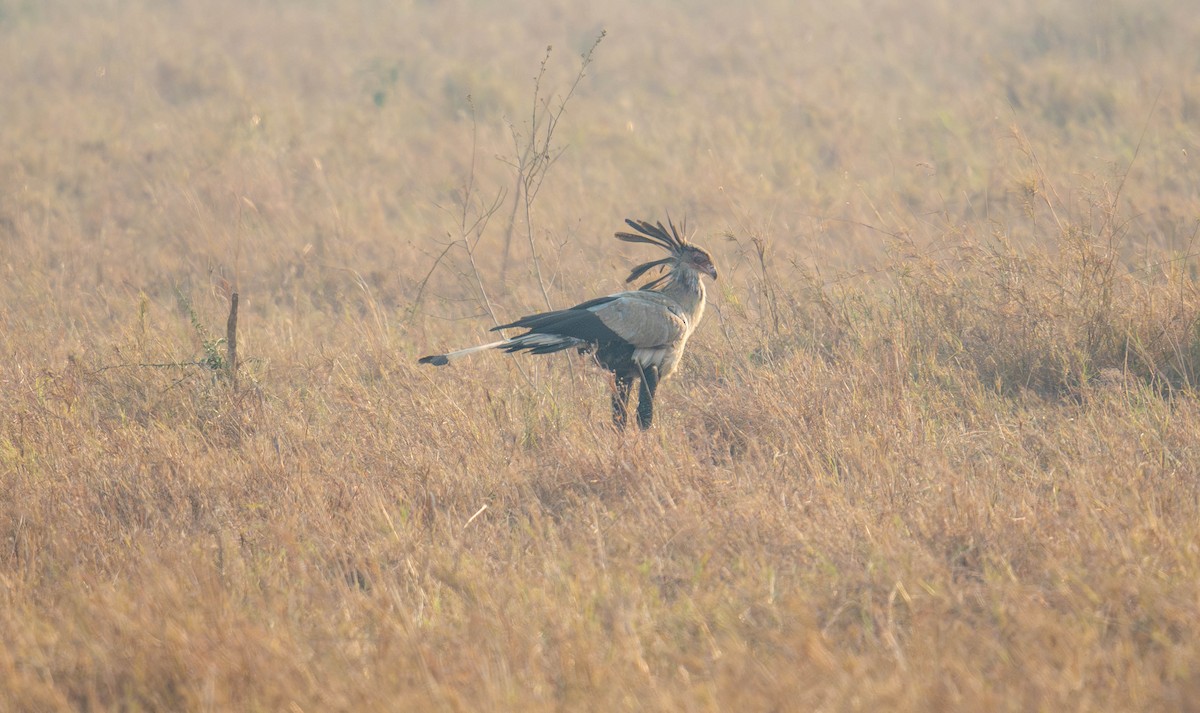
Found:
[{"label": "grey and black secretarybird with raised crest feathers standing in dry grass", "polygon": [[580,353],[592,353],[596,363],[616,377],[612,423],[618,430],[625,427],[629,394],[634,379],[640,379],[637,425],[649,429],[659,382],[679,365],[688,337],[704,314],[704,283],[700,277],[708,275],[716,280],[716,268],[708,251],[680,236],[670,218],[670,229],[661,222],[625,222],[637,233],[617,233],[619,240],[658,245],[670,253],[637,265],[625,282],[634,282],[654,268],[664,268],[662,275],[640,289],[618,292],[569,310],[529,314],[493,326],[492,331],[526,331],[479,347],[422,356],[420,363],[445,366],[455,359],[487,349],[550,354],[576,347]]}]

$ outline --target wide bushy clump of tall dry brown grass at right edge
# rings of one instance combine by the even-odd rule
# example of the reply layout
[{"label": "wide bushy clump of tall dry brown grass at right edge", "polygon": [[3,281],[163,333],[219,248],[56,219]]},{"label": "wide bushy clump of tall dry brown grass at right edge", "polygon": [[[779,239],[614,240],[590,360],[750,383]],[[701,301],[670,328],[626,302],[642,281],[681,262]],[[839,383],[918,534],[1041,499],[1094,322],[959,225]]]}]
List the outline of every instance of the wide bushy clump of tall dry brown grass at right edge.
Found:
[{"label": "wide bushy clump of tall dry brown grass at right edge", "polygon": [[1200,302],[1176,260],[1130,271],[1075,228],[1058,248],[966,244],[955,263],[902,271],[898,322],[914,363],[970,366],[1012,394],[1078,396],[1111,372],[1192,388]]}]

